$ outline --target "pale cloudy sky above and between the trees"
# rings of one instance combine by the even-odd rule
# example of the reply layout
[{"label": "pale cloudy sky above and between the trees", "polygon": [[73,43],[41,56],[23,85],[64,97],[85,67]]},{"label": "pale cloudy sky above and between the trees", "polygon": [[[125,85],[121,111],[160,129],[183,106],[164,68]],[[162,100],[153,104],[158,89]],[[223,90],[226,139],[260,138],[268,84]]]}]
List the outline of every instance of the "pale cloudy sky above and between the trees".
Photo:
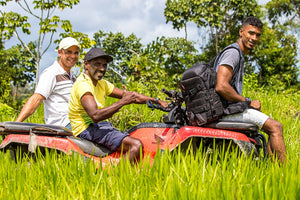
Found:
[{"label": "pale cloudy sky above and between the trees", "polygon": [[[66,19],[73,25],[73,30],[88,34],[92,39],[93,34],[99,30],[105,32],[122,32],[125,36],[134,33],[146,45],[156,37],[184,37],[184,30],[177,31],[172,24],[166,24],[164,16],[165,0],[81,0],[73,9],[56,10],[55,15]],[[3,9],[3,8],[1,8]],[[13,1],[5,7],[5,11],[14,11],[24,14]],[[37,37],[37,22],[29,21],[32,26],[30,36],[22,35],[29,42]],[[20,30],[19,30],[20,32]],[[58,33],[54,39],[58,39]],[[205,42],[205,37],[200,37],[194,24],[188,26],[188,39],[198,43]],[[199,42],[199,40],[201,41]],[[16,37],[7,41],[6,48],[19,43]],[[52,45],[41,60],[44,69],[53,63],[57,53]]]}]

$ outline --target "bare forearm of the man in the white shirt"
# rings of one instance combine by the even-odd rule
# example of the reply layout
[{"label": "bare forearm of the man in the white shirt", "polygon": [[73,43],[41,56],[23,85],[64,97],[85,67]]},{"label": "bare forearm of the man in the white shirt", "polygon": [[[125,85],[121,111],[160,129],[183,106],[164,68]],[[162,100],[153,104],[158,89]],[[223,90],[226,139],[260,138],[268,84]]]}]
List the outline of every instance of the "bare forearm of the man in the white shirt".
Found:
[{"label": "bare forearm of the man in the white shirt", "polygon": [[16,121],[23,122],[25,119],[27,119],[35,112],[44,99],[45,97],[43,95],[34,93],[23,106]]}]

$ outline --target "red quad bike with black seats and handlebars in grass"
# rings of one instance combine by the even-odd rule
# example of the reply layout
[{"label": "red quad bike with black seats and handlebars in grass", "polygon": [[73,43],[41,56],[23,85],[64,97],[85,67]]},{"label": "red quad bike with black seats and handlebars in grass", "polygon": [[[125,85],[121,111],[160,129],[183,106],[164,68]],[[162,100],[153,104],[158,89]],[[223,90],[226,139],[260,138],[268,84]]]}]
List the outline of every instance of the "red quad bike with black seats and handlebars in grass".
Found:
[{"label": "red quad bike with black seats and handlebars in grass", "polygon": [[[176,91],[162,90],[171,103],[167,108],[147,102],[148,107],[168,112],[163,115],[163,122],[141,123],[127,132],[131,137],[143,143],[143,158],[149,157],[153,163],[158,151],[173,151],[181,146],[181,150],[189,145],[204,147],[210,151],[217,144],[230,143],[238,147],[245,155],[254,158],[266,157],[266,139],[258,132],[256,125],[251,123],[215,121],[204,127],[188,126],[185,108],[182,107],[182,94]],[[109,149],[93,142],[74,137],[72,132],[60,126],[23,123],[0,122],[0,134],[3,142],[0,150],[10,151],[13,159],[16,154],[34,154],[54,149],[59,153],[71,155],[73,153],[93,159],[102,167],[108,164],[117,164],[121,152],[112,152]],[[261,153],[262,152],[262,153]]]}]

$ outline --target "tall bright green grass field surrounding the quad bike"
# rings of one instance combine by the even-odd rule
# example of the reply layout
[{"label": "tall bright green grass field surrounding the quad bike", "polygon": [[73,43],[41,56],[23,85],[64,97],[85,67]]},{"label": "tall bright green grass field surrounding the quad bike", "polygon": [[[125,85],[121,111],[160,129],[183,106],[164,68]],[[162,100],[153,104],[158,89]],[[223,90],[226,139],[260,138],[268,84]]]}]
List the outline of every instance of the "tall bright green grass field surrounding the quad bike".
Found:
[{"label": "tall bright green grass field surrounding the quad bike", "polygon": [[[249,91],[245,96],[261,100],[262,111],[283,123],[285,166],[235,152],[207,159],[201,151],[177,151],[157,155],[152,167],[122,160],[97,170],[78,156],[50,153],[35,162],[14,162],[8,153],[0,153],[0,199],[300,199],[300,94]],[[12,121],[17,114],[2,113],[1,121]],[[161,115],[145,105],[130,105],[111,121],[125,130],[159,121]],[[42,108],[28,121],[43,123]]]}]

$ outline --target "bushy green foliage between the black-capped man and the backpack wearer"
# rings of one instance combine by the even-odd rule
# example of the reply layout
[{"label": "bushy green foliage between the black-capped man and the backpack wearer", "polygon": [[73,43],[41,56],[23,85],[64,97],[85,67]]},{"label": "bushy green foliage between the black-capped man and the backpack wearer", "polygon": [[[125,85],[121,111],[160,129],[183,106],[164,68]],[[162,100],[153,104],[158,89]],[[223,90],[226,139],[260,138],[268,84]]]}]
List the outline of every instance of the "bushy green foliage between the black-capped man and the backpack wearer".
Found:
[{"label": "bushy green foliage between the black-capped man and the backpack wearer", "polygon": [[184,38],[160,37],[144,47],[134,34],[98,31],[94,40],[114,58],[106,78],[148,95],[178,87],[182,72],[198,61],[194,43]]}]

